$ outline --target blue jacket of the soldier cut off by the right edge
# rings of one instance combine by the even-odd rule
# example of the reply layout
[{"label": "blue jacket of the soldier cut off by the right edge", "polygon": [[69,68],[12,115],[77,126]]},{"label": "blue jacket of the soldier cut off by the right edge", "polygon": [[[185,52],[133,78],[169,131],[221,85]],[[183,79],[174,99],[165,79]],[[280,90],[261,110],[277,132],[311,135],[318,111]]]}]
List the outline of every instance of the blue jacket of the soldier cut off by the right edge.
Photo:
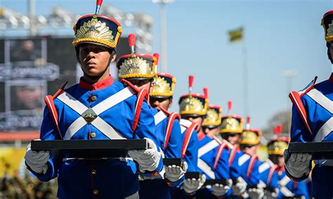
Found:
[{"label": "blue jacket of the soldier cut off by the right edge", "polygon": [[[299,92],[301,103],[306,111],[307,123],[312,132],[306,128],[299,111],[294,105],[292,107],[291,142],[332,142],[333,133],[333,75],[321,83],[311,83]],[[290,96],[290,95],[289,95]],[[315,160],[312,172],[313,197],[333,198],[333,163],[331,166],[320,165],[323,160]],[[287,175],[290,177],[289,173]],[[293,177],[294,178],[294,177]],[[306,176],[296,179],[301,181]]]}]

